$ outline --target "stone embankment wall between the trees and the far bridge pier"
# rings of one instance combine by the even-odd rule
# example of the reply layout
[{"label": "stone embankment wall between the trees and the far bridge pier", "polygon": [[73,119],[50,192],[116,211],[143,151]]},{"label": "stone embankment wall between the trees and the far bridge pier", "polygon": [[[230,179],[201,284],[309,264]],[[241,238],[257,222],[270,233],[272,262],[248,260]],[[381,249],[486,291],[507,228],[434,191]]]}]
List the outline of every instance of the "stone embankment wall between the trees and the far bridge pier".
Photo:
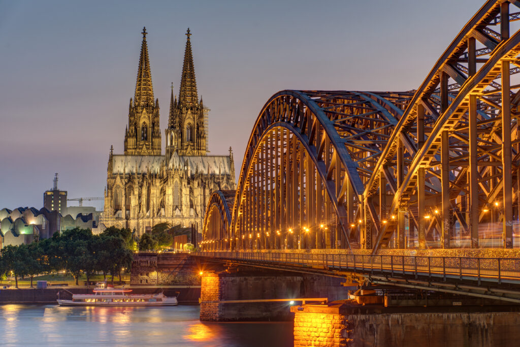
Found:
[{"label": "stone embankment wall between the trees and the far bridge pier", "polygon": [[130,284],[200,286],[198,264],[187,253],[139,253],[134,256]]}]

